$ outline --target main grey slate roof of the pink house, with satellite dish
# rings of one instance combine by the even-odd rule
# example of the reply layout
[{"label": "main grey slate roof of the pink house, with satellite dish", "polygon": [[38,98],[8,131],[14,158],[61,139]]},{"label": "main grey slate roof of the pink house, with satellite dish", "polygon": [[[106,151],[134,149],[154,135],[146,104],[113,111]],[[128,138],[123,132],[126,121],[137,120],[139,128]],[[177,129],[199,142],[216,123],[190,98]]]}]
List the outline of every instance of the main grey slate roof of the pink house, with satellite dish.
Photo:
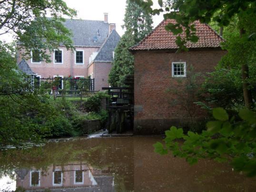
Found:
[{"label": "main grey slate roof of the pink house, with satellite dish", "polygon": [[99,47],[109,33],[109,24],[99,20],[66,19],[64,26],[72,32],[74,46]]}]

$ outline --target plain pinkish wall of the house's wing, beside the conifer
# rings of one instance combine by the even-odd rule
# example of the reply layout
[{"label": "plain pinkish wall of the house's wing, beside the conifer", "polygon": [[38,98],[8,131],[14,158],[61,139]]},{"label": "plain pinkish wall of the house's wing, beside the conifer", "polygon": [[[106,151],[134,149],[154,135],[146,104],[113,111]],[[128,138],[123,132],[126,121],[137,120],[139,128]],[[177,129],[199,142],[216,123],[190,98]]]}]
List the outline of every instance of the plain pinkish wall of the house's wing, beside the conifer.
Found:
[{"label": "plain pinkish wall of the house's wing, beside the conifer", "polygon": [[98,91],[101,90],[102,87],[108,87],[108,74],[112,67],[110,62],[103,63],[103,62],[95,62],[94,63],[94,83],[95,88],[94,90]]}]

